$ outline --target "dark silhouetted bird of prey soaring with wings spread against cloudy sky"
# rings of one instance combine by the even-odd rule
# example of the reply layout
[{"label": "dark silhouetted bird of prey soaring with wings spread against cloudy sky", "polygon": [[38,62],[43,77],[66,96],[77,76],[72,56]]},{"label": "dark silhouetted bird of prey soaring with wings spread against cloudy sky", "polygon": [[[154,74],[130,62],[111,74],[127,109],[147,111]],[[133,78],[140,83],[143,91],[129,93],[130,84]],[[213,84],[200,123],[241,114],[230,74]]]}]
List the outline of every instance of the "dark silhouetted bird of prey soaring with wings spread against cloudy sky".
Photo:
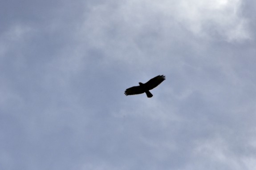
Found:
[{"label": "dark silhouetted bird of prey soaring with wings spread against cloudy sky", "polygon": [[139,86],[133,86],[125,91],[125,95],[134,95],[134,94],[142,94],[146,93],[147,97],[152,97],[153,94],[150,93],[149,90],[154,89],[156,86],[158,86],[160,83],[162,83],[165,80],[164,75],[159,75],[154,78],[151,78],[148,82],[145,84],[139,82]]}]

